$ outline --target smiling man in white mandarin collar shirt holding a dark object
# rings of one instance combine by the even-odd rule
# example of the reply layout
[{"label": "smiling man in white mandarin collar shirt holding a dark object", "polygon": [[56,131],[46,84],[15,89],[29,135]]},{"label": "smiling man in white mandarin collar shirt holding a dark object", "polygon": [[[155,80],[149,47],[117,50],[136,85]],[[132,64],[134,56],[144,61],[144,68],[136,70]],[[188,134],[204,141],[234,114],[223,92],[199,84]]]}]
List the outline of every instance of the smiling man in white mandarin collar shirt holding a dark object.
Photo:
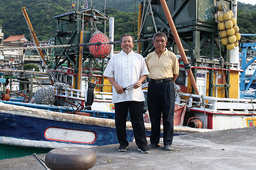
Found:
[{"label": "smiling man in white mandarin collar shirt holding a dark object", "polygon": [[[124,34],[120,41],[122,51],[109,60],[103,74],[113,85],[112,102],[115,105],[116,136],[120,144],[119,151],[126,151],[129,145],[126,140],[126,118],[129,110],[138,150],[142,153],[149,153],[143,121],[145,99],[141,87],[141,83],[144,82],[149,72],[144,58],[132,50],[134,37],[131,34]],[[128,86],[132,88],[123,89]]]}]

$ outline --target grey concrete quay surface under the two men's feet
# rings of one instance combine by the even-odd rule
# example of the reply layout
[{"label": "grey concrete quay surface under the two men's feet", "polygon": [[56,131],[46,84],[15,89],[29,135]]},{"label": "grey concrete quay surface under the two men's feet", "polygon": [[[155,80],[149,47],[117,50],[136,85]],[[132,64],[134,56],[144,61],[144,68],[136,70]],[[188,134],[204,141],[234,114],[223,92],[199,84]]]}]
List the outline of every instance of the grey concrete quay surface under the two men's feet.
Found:
[{"label": "grey concrete quay surface under the two men's feet", "polygon": [[[149,140],[148,140],[149,141]],[[148,142],[150,143],[150,142]],[[256,169],[256,127],[174,136],[173,151],[161,147],[141,153],[135,142],[125,152],[119,144],[93,147],[90,170],[248,170]],[[38,154],[42,159],[46,154]],[[46,170],[35,156],[0,160],[0,170]]]}]

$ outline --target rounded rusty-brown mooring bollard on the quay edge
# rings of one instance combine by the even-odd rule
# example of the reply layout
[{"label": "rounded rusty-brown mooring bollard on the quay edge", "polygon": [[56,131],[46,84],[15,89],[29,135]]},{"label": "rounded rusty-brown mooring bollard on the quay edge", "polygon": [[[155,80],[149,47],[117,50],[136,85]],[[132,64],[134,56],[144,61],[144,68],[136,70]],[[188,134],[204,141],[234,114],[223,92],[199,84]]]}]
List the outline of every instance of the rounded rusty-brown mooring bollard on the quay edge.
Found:
[{"label": "rounded rusty-brown mooring bollard on the quay edge", "polygon": [[88,170],[96,161],[93,150],[84,147],[56,148],[45,156],[45,164],[51,170]]}]

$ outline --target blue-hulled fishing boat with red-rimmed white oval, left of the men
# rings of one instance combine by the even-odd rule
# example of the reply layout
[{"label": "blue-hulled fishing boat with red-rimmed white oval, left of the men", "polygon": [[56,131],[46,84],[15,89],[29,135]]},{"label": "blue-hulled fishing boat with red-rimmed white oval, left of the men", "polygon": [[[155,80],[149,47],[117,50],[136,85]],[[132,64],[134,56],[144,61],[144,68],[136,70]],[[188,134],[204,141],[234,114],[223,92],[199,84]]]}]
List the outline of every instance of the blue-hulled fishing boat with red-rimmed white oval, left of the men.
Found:
[{"label": "blue-hulled fishing boat with red-rimmed white oval, left of the men", "polygon": [[[104,48],[100,53],[93,48],[83,49],[82,46],[76,45],[84,42],[99,43],[91,40],[98,38],[101,41],[106,38],[105,34],[95,30],[94,26],[96,23],[104,25],[108,16],[94,8],[81,8],[58,15],[55,17],[57,20],[55,46],[40,47],[26,9],[22,8],[22,11],[32,40],[38,46],[35,48],[41,55],[51,85],[47,85],[49,87],[46,88],[39,80],[34,83],[34,74],[39,74],[34,71],[5,70],[7,74],[9,72],[30,74],[28,81],[22,79],[29,84],[26,83],[26,87],[20,86],[19,89],[20,91],[30,89],[30,93],[27,97],[29,100],[22,97],[21,99],[5,97],[9,95],[9,91],[0,96],[2,99],[0,128],[3,129],[0,132],[0,147],[7,153],[0,159],[25,156],[35,152],[45,153],[56,147],[93,147],[118,143],[114,125],[112,86],[107,77],[102,76],[105,56],[109,54],[109,50],[106,52],[105,48],[109,48],[110,45],[97,45],[97,49]],[[81,19],[81,22],[76,20],[77,18]],[[103,32],[105,31],[104,27]],[[109,40],[104,39],[104,41]],[[90,47],[95,48],[95,45],[90,44]],[[55,48],[56,62],[52,68],[44,61],[41,48]],[[63,59],[62,56],[65,58]],[[62,65],[64,62],[67,62],[67,65]],[[89,68],[82,67],[84,62],[89,63]],[[23,83],[22,80],[19,78],[18,82]],[[39,84],[41,88],[32,98],[32,88],[35,84]],[[176,118],[179,126],[183,123],[185,105],[180,108],[178,109],[180,114]],[[146,136],[149,136],[151,125],[145,124],[145,126]],[[175,135],[205,131],[190,129],[175,127]],[[134,141],[131,122],[127,122],[127,140]]]}]

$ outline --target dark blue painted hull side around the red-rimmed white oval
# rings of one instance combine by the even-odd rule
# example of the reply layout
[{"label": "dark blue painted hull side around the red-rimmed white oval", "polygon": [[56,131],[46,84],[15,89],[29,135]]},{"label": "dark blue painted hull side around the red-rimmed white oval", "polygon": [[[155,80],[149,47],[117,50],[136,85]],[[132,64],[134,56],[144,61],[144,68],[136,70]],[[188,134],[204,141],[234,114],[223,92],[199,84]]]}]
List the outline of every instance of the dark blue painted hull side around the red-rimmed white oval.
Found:
[{"label": "dark blue painted hull side around the red-rimmed white oval", "polygon": [[[20,116],[9,113],[0,113],[0,136],[13,137],[18,139],[28,139],[36,141],[70,143],[57,140],[49,140],[44,136],[44,132],[49,127],[59,127],[75,130],[86,130],[96,133],[96,141],[93,143],[79,143],[82,145],[106,145],[116,144],[116,129],[112,127],[102,127],[96,125],[84,125],[71,122],[55,121],[51,119],[41,119],[31,116]],[[127,130],[127,140],[132,142],[134,139],[133,130]]]}]

